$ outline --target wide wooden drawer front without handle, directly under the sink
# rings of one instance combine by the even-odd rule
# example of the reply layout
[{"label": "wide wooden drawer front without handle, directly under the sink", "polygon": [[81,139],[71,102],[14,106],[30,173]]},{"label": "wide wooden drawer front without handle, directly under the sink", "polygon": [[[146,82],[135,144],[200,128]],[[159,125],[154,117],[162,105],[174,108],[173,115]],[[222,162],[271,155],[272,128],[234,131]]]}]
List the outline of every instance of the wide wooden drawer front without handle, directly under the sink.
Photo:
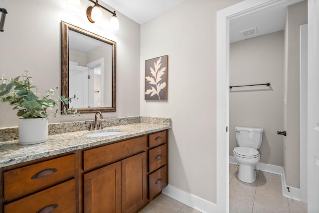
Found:
[{"label": "wide wooden drawer front without handle, directly under the sink", "polygon": [[146,151],[147,136],[83,151],[83,169],[89,170]]}]

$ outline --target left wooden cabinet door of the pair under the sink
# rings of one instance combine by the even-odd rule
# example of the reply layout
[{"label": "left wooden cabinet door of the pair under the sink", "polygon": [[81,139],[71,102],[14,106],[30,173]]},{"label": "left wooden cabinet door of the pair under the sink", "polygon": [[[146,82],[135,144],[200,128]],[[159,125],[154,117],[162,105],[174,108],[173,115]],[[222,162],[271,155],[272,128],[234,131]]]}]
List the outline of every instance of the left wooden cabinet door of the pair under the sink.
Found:
[{"label": "left wooden cabinet door of the pair under the sink", "polygon": [[121,162],[84,174],[84,212],[121,213]]}]

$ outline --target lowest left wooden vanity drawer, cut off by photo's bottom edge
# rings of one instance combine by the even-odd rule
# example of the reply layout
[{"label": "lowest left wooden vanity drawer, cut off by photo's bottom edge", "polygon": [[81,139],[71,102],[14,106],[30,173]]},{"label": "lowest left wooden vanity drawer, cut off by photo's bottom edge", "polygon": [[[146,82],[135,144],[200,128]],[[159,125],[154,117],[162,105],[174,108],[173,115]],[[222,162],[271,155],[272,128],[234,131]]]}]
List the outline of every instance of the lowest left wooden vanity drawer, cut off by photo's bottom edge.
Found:
[{"label": "lowest left wooden vanity drawer, cut off by photo's bottom edge", "polygon": [[75,213],[75,179],[4,205],[4,213]]}]

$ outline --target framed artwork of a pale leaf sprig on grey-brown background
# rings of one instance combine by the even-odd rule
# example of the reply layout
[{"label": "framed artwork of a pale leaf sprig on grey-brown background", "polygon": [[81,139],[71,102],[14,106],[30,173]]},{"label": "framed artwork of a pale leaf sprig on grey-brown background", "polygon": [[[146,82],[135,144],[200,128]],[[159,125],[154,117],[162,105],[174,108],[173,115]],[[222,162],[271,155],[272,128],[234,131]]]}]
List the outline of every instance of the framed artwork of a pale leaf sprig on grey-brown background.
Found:
[{"label": "framed artwork of a pale leaf sprig on grey-brown background", "polygon": [[145,61],[145,100],[167,100],[167,58]]}]

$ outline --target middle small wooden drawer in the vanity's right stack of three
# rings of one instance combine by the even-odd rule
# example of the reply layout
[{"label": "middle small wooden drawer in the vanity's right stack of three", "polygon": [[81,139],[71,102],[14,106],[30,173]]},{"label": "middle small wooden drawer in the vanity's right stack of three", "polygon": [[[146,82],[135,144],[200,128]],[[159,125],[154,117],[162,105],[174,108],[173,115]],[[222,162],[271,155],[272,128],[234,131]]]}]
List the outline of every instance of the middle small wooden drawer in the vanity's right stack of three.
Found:
[{"label": "middle small wooden drawer in the vanity's right stack of three", "polygon": [[166,164],[166,144],[149,150],[149,172]]}]

